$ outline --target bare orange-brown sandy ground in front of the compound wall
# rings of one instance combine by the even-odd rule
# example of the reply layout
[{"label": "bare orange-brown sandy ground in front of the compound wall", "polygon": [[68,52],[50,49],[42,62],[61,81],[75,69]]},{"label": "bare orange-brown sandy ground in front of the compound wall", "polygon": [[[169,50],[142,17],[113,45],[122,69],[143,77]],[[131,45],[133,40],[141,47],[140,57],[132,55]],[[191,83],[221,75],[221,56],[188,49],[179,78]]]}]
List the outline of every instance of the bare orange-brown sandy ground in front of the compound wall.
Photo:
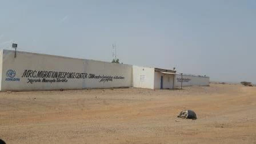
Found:
[{"label": "bare orange-brown sandy ground in front of the compound wall", "polygon": [[[183,109],[197,120],[179,119]],[[256,87],[0,93],[6,143],[256,143]]]}]

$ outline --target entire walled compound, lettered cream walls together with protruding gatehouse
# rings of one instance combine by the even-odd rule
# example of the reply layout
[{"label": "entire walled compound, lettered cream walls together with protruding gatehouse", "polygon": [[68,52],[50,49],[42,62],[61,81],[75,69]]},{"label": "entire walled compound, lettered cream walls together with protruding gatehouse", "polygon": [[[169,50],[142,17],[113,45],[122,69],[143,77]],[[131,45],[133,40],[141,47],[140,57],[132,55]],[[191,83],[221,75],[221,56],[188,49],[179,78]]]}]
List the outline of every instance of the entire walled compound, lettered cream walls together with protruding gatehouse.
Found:
[{"label": "entire walled compound, lettered cream walls together with protruding gatehouse", "polygon": [[[176,71],[57,55],[0,51],[0,90],[33,91],[141,87],[174,89]],[[188,75],[189,76],[189,75]],[[209,85],[209,77],[191,79],[189,85]],[[182,80],[182,82],[185,82]]]}]

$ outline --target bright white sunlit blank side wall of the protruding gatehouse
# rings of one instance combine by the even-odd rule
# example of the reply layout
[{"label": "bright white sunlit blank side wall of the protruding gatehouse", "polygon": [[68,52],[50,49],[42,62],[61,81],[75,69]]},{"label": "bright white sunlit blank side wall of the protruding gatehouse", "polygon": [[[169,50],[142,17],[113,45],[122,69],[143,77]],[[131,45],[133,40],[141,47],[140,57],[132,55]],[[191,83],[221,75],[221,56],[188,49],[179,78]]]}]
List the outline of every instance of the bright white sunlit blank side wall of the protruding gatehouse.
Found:
[{"label": "bright white sunlit blank side wall of the protruding gatehouse", "polygon": [[133,87],[154,89],[154,68],[133,66]]}]

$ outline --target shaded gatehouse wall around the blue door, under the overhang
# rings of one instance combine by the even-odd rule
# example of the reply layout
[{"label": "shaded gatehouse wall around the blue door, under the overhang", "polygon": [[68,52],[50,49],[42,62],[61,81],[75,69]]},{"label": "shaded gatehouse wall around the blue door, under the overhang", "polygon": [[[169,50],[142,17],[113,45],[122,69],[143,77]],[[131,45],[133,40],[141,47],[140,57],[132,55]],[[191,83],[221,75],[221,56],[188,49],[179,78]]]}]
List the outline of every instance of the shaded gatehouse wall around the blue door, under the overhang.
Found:
[{"label": "shaded gatehouse wall around the blue door, under the overhang", "polygon": [[173,74],[163,74],[155,71],[154,75],[154,89],[161,88],[161,76],[163,76],[163,89],[173,89],[173,78],[175,77]]}]

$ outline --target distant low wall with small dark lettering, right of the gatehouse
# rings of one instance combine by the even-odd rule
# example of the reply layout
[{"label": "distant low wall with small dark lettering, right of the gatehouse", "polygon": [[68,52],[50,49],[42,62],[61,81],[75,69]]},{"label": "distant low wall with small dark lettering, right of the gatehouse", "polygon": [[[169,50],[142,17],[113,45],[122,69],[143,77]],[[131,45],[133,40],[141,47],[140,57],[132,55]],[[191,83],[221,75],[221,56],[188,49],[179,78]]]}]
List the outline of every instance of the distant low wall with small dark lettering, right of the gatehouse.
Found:
[{"label": "distant low wall with small dark lettering, right of the gatehouse", "polygon": [[[209,77],[198,77],[194,75],[183,75],[182,86],[209,86]],[[175,87],[181,87],[181,75],[176,75]]]}]

